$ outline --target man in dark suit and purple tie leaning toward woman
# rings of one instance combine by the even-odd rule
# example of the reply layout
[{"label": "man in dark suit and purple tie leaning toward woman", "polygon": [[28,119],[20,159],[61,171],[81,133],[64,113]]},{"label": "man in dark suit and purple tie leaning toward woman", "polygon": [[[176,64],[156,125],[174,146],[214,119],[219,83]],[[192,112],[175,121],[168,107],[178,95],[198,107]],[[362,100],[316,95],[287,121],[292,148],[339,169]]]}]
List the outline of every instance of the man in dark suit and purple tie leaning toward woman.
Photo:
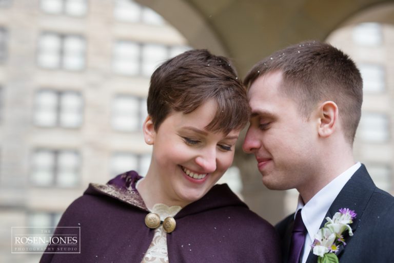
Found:
[{"label": "man in dark suit and purple tie leaning toward woman", "polygon": [[[252,115],[244,151],[269,189],[300,193],[296,213],[276,226],[284,262],[394,262],[394,197],[352,155],[363,96],[353,61],[329,44],[304,42],[260,61],[245,84]],[[319,231],[343,208],[354,211],[351,229]],[[316,241],[318,232],[326,239]],[[327,248],[311,250],[317,245]]]}]

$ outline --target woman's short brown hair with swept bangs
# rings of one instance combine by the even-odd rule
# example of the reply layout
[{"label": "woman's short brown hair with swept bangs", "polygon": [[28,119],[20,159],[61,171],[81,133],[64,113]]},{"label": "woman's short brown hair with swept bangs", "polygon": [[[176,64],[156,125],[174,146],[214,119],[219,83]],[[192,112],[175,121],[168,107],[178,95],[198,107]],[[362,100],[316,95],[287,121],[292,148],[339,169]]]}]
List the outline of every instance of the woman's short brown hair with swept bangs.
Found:
[{"label": "woman's short brown hair with swept bangs", "polygon": [[164,62],[152,74],[148,92],[148,114],[154,129],[172,111],[188,114],[214,99],[218,108],[206,126],[228,134],[249,121],[246,89],[227,58],[205,49],[186,51]]}]

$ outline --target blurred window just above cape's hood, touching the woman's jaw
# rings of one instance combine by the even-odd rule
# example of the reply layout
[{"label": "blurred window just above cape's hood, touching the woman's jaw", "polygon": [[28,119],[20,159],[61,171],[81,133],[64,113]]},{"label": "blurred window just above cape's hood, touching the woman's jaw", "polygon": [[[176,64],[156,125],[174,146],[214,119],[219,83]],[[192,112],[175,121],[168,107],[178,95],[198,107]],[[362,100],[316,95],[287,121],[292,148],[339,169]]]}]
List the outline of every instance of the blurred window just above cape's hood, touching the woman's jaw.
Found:
[{"label": "blurred window just above cape's hood, touching the woman's jaw", "polygon": [[141,176],[145,176],[150,165],[150,158],[150,154],[115,153],[111,158],[111,175],[116,176],[134,170]]}]

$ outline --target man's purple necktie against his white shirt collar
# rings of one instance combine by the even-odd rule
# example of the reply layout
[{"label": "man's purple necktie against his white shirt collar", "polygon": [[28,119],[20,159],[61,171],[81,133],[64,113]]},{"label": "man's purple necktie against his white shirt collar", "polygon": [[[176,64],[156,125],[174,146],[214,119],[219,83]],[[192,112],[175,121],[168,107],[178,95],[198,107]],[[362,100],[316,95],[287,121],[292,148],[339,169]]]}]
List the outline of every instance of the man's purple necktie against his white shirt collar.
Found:
[{"label": "man's purple necktie against his white shirt collar", "polygon": [[290,242],[290,253],[288,263],[299,263],[301,251],[304,247],[306,228],[301,217],[301,209],[295,215],[293,232]]}]

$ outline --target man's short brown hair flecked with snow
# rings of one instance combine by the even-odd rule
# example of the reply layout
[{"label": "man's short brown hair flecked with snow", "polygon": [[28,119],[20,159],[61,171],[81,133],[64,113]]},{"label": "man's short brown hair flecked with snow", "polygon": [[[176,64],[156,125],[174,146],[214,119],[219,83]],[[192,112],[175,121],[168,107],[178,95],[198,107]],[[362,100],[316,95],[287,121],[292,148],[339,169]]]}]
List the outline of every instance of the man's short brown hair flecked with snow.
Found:
[{"label": "man's short brown hair flecked with snow", "polygon": [[361,117],[363,81],[356,64],[330,44],[307,41],[274,52],[248,72],[250,85],[272,71],[282,72],[281,91],[299,104],[299,113],[310,117],[319,102],[333,101],[346,140],[352,145]]}]

